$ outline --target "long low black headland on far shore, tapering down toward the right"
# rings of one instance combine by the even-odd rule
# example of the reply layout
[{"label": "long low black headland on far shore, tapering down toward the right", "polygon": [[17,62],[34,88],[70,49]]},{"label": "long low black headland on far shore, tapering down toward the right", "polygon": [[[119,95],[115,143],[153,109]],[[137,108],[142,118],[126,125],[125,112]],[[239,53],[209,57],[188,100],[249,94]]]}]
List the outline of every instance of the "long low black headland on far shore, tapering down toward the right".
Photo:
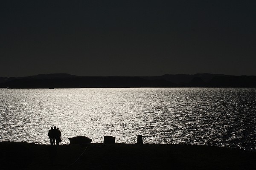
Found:
[{"label": "long low black headland on far shore, tapering down toward the right", "polygon": [[1,88],[136,88],[177,87],[166,80],[147,80],[139,77],[64,77],[22,78],[0,84]]}]

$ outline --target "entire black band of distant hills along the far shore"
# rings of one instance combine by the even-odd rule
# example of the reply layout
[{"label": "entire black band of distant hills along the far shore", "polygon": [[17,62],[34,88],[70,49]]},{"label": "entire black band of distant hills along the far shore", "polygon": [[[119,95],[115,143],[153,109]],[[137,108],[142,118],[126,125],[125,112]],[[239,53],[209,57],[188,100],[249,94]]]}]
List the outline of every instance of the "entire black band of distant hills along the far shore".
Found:
[{"label": "entire black band of distant hills along the far shore", "polygon": [[152,77],[89,77],[70,74],[38,74],[0,77],[0,88],[256,88],[256,76],[224,74],[165,74]]}]

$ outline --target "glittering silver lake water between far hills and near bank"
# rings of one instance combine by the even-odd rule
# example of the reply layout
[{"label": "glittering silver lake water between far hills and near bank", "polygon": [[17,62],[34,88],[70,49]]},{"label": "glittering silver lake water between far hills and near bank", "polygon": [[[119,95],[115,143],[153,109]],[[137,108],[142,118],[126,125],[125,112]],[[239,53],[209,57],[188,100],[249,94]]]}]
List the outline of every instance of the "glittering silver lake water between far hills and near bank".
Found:
[{"label": "glittering silver lake water between far hills and near bank", "polygon": [[255,88],[0,89],[0,141],[49,144],[48,130],[102,143],[256,150]]}]

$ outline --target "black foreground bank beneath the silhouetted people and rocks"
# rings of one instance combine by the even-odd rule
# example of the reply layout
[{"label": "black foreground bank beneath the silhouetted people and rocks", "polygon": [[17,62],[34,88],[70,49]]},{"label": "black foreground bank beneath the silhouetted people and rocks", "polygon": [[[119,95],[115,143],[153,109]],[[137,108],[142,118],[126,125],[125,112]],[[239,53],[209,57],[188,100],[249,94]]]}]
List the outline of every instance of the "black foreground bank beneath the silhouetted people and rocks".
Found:
[{"label": "black foreground bank beneath the silhouetted people and rocks", "polygon": [[255,170],[256,152],[183,144],[0,142],[0,169]]}]

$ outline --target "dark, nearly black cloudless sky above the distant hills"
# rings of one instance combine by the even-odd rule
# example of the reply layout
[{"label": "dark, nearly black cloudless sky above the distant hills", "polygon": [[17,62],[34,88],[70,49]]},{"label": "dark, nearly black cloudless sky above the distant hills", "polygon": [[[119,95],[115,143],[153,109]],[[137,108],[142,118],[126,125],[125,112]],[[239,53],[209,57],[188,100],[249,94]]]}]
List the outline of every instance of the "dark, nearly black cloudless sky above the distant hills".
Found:
[{"label": "dark, nearly black cloudless sky above the distant hills", "polygon": [[256,75],[256,0],[5,0],[0,77]]}]

